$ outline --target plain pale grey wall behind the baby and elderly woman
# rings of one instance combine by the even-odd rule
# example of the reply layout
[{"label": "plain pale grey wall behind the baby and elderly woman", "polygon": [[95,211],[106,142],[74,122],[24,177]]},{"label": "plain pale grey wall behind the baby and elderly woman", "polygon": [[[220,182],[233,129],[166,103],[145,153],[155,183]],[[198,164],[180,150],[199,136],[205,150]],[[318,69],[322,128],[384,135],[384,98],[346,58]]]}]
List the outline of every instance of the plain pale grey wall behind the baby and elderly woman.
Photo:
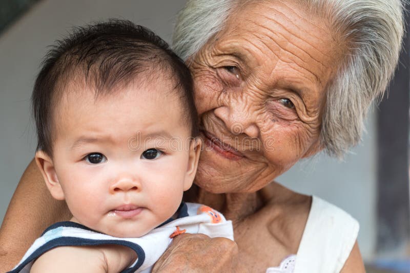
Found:
[{"label": "plain pale grey wall behind the baby and elderly woman", "polygon": [[[173,18],[185,0],[43,0],[0,36],[0,219],[35,149],[29,99],[46,46],[72,26],[110,17],[131,19],[170,41]],[[339,163],[325,156],[305,161],[278,178],[300,192],[315,194],[351,213],[360,224],[365,258],[375,245],[374,117],[356,154]]]}]

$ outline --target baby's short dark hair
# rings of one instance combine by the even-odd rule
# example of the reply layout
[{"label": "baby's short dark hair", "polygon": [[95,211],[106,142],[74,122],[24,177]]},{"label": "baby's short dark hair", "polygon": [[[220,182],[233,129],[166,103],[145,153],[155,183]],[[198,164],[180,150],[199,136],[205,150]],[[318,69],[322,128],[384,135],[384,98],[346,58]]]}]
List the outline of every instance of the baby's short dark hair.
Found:
[{"label": "baby's short dark hair", "polygon": [[118,87],[127,86],[141,73],[148,82],[152,77],[165,76],[175,84],[183,122],[191,127],[192,137],[197,137],[197,112],[188,67],[166,41],[149,29],[128,20],[110,19],[75,28],[47,53],[31,98],[37,150],[52,156],[53,111],[67,92],[67,84],[74,80],[85,82],[98,96],[118,92]]}]

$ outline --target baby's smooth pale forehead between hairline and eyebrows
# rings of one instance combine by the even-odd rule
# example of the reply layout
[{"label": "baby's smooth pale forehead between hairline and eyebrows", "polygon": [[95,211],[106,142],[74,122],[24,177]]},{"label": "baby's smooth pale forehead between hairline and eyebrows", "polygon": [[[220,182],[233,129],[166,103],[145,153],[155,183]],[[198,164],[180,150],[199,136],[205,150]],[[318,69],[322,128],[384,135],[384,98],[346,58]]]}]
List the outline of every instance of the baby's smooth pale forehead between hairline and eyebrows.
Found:
[{"label": "baby's smooth pale forehead between hairline and eyebrows", "polygon": [[100,120],[118,119],[117,116],[111,115],[113,112],[122,113],[130,122],[134,118],[131,115],[138,115],[141,120],[150,121],[172,117],[175,121],[170,119],[169,122],[174,122],[175,126],[182,124],[190,128],[181,92],[167,77],[138,77],[133,81],[112,86],[109,90],[99,90],[85,80],[76,80],[68,82],[60,90],[60,99],[53,111],[57,130],[64,130],[62,127],[68,126],[67,122],[64,122],[68,117],[71,117],[73,122],[87,122],[86,117]]}]

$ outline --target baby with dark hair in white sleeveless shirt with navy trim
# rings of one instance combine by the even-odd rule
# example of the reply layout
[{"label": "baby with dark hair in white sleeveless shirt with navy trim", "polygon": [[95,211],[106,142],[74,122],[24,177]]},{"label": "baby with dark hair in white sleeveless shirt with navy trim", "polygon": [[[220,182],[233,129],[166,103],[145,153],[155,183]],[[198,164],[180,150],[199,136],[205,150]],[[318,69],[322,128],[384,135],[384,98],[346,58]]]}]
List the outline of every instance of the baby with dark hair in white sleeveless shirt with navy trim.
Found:
[{"label": "baby with dark hair in white sleeveless shirt with navy trim", "polygon": [[[231,221],[181,201],[202,145],[192,89],[167,43],[129,21],[58,41],[32,95],[35,159],[73,217],[50,226],[11,272],[95,271],[104,259],[101,271],[150,271],[182,232],[233,239]],[[83,255],[101,249],[104,259]]]}]

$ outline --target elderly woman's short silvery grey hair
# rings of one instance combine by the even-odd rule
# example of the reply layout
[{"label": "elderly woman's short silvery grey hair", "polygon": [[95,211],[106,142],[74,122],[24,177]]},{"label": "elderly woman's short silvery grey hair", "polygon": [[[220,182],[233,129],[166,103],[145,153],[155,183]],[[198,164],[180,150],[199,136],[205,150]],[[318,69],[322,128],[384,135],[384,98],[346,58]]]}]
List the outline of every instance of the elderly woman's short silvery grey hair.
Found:
[{"label": "elderly woman's short silvery grey hair", "polygon": [[[188,0],[180,11],[173,49],[185,61],[224,27],[237,5],[267,0]],[[272,0],[271,0],[272,1]],[[327,88],[320,141],[341,158],[361,139],[373,101],[380,101],[399,58],[404,0],[297,0],[330,23],[347,54]]]}]

